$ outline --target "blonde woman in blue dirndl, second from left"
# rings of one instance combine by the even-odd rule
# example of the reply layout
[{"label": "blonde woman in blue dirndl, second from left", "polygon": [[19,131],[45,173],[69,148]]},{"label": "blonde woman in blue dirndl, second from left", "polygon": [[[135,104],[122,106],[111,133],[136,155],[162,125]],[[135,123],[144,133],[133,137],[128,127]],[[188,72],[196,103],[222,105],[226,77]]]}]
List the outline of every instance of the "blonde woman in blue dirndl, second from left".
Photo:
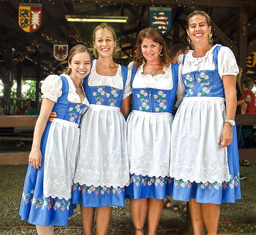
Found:
[{"label": "blonde woman in blue dirndl, second from left", "polygon": [[[127,125],[130,73],[114,62],[116,34],[101,24],[94,30],[94,54],[84,89],[90,108],[81,120],[80,151],[74,176],[72,203],[80,204],[85,234],[106,234],[112,206],[125,206],[129,184]],[[58,114],[57,114],[58,115]]]}]

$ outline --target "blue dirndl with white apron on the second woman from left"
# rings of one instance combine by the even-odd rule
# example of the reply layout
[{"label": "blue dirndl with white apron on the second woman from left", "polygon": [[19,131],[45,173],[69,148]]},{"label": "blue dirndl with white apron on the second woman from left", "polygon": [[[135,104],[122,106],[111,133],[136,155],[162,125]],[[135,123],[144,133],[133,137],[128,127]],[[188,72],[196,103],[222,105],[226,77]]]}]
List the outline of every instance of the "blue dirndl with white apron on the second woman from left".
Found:
[{"label": "blue dirndl with white apron on the second woman from left", "polygon": [[[127,126],[120,107],[127,78],[128,68],[123,65],[113,77],[98,75],[94,60],[90,75],[84,79],[90,108],[81,120],[72,203],[85,207],[125,206],[129,165]],[[96,86],[89,86],[89,81],[97,79]],[[100,84],[104,79],[108,84]],[[115,87],[115,81],[119,87]]]}]

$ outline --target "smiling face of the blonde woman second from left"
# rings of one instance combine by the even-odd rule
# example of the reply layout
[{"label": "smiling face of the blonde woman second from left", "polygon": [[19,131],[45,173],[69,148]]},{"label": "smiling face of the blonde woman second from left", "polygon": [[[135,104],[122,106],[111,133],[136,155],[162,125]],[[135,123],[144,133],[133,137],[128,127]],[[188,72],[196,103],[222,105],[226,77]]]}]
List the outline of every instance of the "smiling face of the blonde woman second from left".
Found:
[{"label": "smiling face of the blonde woman second from left", "polygon": [[116,41],[110,30],[97,30],[95,32],[94,46],[99,57],[113,57]]}]

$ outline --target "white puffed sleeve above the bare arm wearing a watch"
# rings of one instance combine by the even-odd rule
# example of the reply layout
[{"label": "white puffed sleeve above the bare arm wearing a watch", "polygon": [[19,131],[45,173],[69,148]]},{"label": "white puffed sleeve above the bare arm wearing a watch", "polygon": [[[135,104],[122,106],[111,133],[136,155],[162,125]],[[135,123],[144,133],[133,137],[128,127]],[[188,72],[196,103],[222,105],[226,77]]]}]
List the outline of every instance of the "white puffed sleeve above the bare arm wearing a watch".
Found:
[{"label": "white puffed sleeve above the bare arm wearing a watch", "polygon": [[233,52],[228,47],[222,47],[218,53],[218,72],[224,75],[237,75],[239,69]]}]

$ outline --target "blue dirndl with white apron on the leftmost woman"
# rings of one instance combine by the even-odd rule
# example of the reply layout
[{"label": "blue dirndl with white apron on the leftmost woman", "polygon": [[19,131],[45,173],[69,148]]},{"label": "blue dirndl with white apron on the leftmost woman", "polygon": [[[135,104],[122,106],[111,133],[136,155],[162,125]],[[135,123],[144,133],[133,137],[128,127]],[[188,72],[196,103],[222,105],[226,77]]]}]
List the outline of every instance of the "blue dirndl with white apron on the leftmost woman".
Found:
[{"label": "blue dirndl with white apron on the leftmost woman", "polygon": [[[29,164],[20,206],[21,219],[28,219],[29,223],[40,226],[66,226],[68,217],[73,214],[73,209],[76,207],[71,204],[70,197],[79,147],[80,128],[78,126],[88,106],[69,102],[67,100],[68,82],[64,76],[61,76],[61,79],[63,82],[62,96],[58,98],[53,108],[53,111],[58,113],[58,118],[46,124],[40,146],[41,167],[35,169]],[[49,143],[54,143],[56,148],[49,149]],[[46,156],[46,151],[52,155]],[[46,165],[53,171],[59,168],[63,174],[63,176],[56,176],[58,182],[48,183],[47,190],[44,189]],[[56,191],[52,192],[51,188],[53,191],[58,191],[58,185],[59,187],[64,185],[69,192],[60,192],[60,195]]]}]

